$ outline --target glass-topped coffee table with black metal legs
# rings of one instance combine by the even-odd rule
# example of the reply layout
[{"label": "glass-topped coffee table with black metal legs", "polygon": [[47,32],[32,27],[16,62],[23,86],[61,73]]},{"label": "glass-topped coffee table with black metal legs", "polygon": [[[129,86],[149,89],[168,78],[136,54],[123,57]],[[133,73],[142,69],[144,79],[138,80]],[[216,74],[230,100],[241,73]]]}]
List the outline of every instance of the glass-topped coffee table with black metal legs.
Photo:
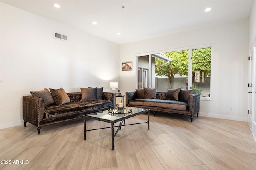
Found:
[{"label": "glass-topped coffee table with black metal legs", "polygon": [[[149,129],[149,114],[150,110],[149,109],[142,109],[142,108],[135,108],[135,107],[125,107],[126,110],[129,110],[130,113],[121,113],[119,112],[113,112],[109,110],[105,111],[99,111],[96,113],[90,113],[87,115],[84,115],[84,140],[86,140],[86,132],[87,131],[92,131],[92,130],[98,130],[98,129],[106,129],[106,128],[111,128],[111,136],[112,136],[112,150],[114,150],[114,137],[118,133],[119,130],[121,130],[122,126],[128,126],[128,125],[136,125],[136,124],[141,124],[141,123],[148,123],[148,129]],[[128,112],[128,111],[126,111]],[[141,122],[141,123],[133,123],[133,124],[125,124],[125,120],[131,117],[134,117],[136,115],[140,115],[143,113],[148,113],[148,121],[146,122]],[[86,119],[94,119],[98,121],[104,121],[107,123],[111,123],[111,127],[103,127],[103,128],[98,128],[98,129],[86,129]],[[114,123],[120,122],[118,126],[114,126]],[[124,123],[124,125],[123,125]],[[114,133],[114,127],[118,127],[116,132]]]}]

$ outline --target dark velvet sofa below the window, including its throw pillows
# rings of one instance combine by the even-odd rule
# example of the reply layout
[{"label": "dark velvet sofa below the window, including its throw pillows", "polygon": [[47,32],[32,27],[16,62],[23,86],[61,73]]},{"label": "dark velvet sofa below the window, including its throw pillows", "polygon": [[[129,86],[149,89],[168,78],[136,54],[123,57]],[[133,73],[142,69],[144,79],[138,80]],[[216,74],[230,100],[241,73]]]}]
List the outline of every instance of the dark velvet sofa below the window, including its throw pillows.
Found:
[{"label": "dark velvet sofa below the window, including its throw pillows", "polygon": [[150,109],[150,111],[177,113],[193,116],[199,113],[200,95],[194,90],[181,88],[169,89],[167,92],[157,92],[156,88],[136,89],[126,92],[126,106]]}]

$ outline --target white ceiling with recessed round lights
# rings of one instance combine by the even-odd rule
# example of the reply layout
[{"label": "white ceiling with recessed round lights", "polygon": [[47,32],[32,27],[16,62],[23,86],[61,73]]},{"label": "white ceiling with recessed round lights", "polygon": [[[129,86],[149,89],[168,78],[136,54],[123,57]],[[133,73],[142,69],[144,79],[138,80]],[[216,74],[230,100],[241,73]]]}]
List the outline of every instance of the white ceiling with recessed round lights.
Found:
[{"label": "white ceiling with recessed round lights", "polygon": [[[249,18],[253,0],[0,0],[123,44]],[[59,4],[55,8],[53,4]],[[122,8],[122,6],[125,6]],[[210,12],[204,9],[210,7]],[[92,21],[98,24],[93,25]],[[120,32],[121,35],[116,35]]]}]

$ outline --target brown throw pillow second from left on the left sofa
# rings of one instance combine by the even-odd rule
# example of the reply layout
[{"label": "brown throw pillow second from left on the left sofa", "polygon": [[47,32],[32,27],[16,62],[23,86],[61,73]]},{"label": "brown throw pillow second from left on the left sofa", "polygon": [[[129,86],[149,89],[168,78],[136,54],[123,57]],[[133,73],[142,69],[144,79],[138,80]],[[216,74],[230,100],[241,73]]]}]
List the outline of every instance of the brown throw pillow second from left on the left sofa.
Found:
[{"label": "brown throw pillow second from left on the left sofa", "polygon": [[52,94],[52,97],[53,97],[54,102],[56,103],[56,105],[62,105],[62,104],[65,104],[65,103],[70,103],[70,99],[69,99],[67,93],[65,92],[65,90],[63,88],[60,88],[60,89],[50,88],[50,92]]}]

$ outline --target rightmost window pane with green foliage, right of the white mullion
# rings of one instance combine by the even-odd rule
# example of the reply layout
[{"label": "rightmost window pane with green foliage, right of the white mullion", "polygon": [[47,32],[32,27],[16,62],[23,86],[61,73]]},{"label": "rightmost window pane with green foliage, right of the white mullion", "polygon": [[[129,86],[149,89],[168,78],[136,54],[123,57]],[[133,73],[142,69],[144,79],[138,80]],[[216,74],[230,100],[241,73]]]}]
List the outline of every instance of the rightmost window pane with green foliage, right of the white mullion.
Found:
[{"label": "rightmost window pane with green foliage, right of the white mullion", "polygon": [[201,97],[210,97],[211,48],[192,51],[192,88]]}]

